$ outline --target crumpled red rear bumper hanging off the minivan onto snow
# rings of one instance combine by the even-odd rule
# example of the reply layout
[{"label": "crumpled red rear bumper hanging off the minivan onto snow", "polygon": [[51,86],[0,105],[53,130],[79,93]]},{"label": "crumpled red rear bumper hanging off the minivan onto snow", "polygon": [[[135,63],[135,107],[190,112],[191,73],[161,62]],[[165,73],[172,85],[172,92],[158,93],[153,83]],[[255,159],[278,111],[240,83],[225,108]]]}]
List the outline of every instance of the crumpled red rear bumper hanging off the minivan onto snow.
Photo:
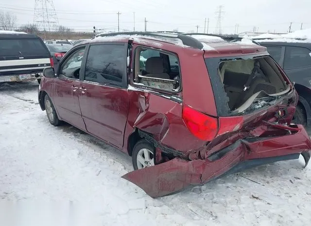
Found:
[{"label": "crumpled red rear bumper hanging off the minivan onto snow", "polygon": [[245,168],[297,159],[300,154],[303,155],[307,166],[311,156],[311,140],[303,126],[298,125],[298,129],[298,132],[291,135],[251,141],[238,140],[229,146],[230,150],[224,156],[217,160],[207,158],[186,161],[175,158],[130,172],[122,178],[133,182],[155,198],[173,194],[189,185],[204,184],[211,179]]}]

